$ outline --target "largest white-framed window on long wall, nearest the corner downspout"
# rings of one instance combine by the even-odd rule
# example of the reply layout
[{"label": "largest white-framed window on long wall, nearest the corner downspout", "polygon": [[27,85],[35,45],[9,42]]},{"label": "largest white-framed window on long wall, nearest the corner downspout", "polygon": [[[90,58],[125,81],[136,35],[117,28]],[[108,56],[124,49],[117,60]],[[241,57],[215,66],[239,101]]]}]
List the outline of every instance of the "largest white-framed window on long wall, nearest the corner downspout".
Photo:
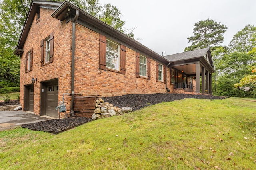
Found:
[{"label": "largest white-framed window on long wall, nearest the corner downspout", "polygon": [[119,70],[120,47],[117,43],[106,40],[106,67]]}]

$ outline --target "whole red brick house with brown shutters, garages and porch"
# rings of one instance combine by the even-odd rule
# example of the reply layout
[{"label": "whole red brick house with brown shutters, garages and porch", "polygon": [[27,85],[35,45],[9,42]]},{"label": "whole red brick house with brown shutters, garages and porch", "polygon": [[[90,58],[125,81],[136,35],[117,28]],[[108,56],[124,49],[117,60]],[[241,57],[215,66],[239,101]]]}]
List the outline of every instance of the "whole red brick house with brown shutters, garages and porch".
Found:
[{"label": "whole red brick house with brown shutters, garages and porch", "polygon": [[162,57],[67,1],[33,1],[14,54],[22,109],[37,115],[58,117],[63,96],[73,114],[75,95],[212,93],[210,48]]}]

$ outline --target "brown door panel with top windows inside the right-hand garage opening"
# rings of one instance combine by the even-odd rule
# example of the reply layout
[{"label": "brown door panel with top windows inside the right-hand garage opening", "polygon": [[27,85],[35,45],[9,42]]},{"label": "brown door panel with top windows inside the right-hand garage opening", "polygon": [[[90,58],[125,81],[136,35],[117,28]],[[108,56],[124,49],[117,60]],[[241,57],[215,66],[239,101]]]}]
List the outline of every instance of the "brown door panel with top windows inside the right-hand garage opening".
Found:
[{"label": "brown door panel with top windows inside the right-hand garage opening", "polygon": [[46,86],[46,115],[58,118],[58,84]]}]

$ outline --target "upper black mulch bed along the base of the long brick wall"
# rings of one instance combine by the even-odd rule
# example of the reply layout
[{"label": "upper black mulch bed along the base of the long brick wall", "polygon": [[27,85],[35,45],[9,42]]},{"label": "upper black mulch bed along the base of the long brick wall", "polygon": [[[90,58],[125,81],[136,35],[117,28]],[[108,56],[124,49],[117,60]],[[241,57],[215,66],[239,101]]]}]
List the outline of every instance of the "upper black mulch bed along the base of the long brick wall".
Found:
[{"label": "upper black mulch bed along the base of the long brick wall", "polygon": [[114,96],[102,98],[104,102],[109,102],[118,107],[131,107],[133,111],[148,106],[149,104],[158,104],[162,102],[170,102],[174,100],[181,100],[184,98],[194,99],[225,99],[222,96],[213,96],[205,94],[127,94],[123,96]]}]

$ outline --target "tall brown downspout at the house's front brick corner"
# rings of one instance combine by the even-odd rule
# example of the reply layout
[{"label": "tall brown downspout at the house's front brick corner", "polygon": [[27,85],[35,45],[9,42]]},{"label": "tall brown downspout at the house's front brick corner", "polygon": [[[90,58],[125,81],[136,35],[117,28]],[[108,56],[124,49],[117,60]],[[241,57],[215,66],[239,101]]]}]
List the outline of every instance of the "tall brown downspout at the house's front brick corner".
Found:
[{"label": "tall brown downspout at the house's front brick corner", "polygon": [[70,104],[70,115],[75,116],[74,112],[74,98],[75,98],[75,92],[74,92],[74,76],[75,76],[75,31],[76,31],[76,20],[79,16],[79,11],[76,10],[76,15],[72,21],[72,59],[71,59],[71,104]]}]

